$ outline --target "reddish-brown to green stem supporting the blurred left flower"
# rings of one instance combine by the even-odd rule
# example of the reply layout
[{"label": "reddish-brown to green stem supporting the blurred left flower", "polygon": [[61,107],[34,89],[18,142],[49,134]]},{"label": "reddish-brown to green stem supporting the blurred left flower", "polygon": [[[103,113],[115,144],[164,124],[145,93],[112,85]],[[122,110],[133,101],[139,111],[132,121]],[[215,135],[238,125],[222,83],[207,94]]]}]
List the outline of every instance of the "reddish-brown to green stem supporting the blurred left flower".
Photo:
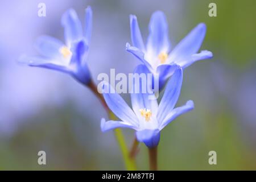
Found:
[{"label": "reddish-brown to green stem supporting the blurred left flower", "polygon": [[[108,105],[106,104],[104,97],[102,94],[98,93],[96,85],[93,83],[93,81],[90,81],[87,86],[92,90],[92,92],[100,99],[102,106],[104,109],[108,112],[109,118],[112,120],[117,119],[112,113],[112,111],[109,109]],[[115,138],[117,139],[117,143],[120,147],[120,150],[122,152],[123,160],[125,162],[126,169],[129,171],[136,170],[136,164],[134,158],[130,158],[129,156],[129,150],[127,148],[125,137],[123,137],[123,133],[121,129],[115,129],[114,130]]]}]

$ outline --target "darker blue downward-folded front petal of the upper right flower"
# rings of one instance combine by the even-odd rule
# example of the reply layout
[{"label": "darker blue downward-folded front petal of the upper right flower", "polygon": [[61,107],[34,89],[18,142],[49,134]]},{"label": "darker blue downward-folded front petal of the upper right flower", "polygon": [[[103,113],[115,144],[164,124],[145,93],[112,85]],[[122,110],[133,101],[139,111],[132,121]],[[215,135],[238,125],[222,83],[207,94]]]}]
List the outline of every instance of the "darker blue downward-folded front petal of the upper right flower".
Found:
[{"label": "darker blue downward-folded front petal of the upper right flower", "polygon": [[180,66],[177,64],[162,64],[158,66],[156,72],[159,74],[159,90],[162,90],[168,78],[174,75],[176,69],[179,68]]}]

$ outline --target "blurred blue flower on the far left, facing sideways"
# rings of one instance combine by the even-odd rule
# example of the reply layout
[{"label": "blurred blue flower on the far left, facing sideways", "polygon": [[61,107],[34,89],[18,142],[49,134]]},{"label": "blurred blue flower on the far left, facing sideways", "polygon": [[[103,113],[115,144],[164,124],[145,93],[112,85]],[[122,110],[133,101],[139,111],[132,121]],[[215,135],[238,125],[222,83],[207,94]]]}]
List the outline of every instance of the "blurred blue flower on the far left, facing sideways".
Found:
[{"label": "blurred blue flower on the far left, facing sideways", "polygon": [[64,27],[65,44],[51,36],[40,36],[36,41],[36,49],[41,56],[20,57],[19,62],[31,67],[42,67],[65,72],[83,84],[91,80],[86,59],[92,34],[92,9],[85,10],[85,31],[73,9],[67,10],[61,19]]}]

